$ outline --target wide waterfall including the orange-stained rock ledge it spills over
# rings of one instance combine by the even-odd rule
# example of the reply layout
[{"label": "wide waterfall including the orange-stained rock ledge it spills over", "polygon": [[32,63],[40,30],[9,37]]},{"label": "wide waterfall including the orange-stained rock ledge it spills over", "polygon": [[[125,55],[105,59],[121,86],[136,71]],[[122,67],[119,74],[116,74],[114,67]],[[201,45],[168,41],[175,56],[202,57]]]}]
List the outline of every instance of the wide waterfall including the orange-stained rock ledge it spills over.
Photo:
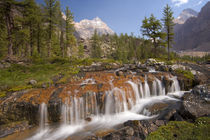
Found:
[{"label": "wide waterfall including the orange-stained rock ledge it spills over", "polygon": [[[165,100],[175,100],[173,96],[168,94],[166,96],[165,89],[168,87],[164,86],[162,80],[154,78],[151,81],[147,79],[147,76],[145,75],[144,82],[141,81],[142,77],[137,79],[135,76],[129,77],[129,79],[127,77],[127,79],[120,79],[119,86],[116,86],[118,85],[116,79],[109,79],[106,81],[107,83],[104,82],[105,84],[103,84],[103,86],[110,85],[107,91],[85,91],[85,94],[83,94],[83,91],[80,93],[81,86],[97,87],[96,84],[98,84],[98,81],[92,78],[84,80],[81,84],[77,84],[79,85],[78,89],[73,88],[74,91],[67,91],[70,94],[61,94],[65,95],[65,99],[62,98],[62,125],[58,129],[46,127],[48,126],[47,105],[42,103],[39,106],[41,131],[30,140],[67,139],[74,133],[83,136],[92,135],[96,131],[110,130],[110,128],[123,124],[128,120],[144,120],[154,117],[145,106]],[[170,80],[172,80],[172,84],[169,87],[169,92],[179,94],[179,92],[176,92],[180,91],[177,77],[172,77]]]}]

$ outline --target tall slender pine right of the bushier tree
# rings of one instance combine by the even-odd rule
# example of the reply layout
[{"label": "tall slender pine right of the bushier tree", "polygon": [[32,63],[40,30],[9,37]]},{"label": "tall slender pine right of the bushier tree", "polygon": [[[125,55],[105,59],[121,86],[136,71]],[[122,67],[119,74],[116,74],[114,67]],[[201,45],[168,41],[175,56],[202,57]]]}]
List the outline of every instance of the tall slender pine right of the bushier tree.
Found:
[{"label": "tall slender pine right of the bushier tree", "polygon": [[173,11],[171,7],[167,4],[166,7],[164,8],[163,11],[163,22],[164,22],[164,28],[166,31],[166,43],[167,43],[167,48],[168,48],[168,60],[170,60],[170,47],[173,42],[174,38],[174,33],[173,33],[173,28],[174,28],[174,17],[173,17]]}]

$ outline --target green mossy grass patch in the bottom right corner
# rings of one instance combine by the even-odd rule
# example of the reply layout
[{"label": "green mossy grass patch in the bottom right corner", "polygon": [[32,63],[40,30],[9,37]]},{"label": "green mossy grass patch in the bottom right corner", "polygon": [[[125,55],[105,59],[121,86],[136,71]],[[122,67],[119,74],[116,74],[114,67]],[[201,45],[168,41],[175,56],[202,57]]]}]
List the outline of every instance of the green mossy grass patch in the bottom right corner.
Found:
[{"label": "green mossy grass patch in the bottom right corner", "polygon": [[172,121],[152,132],[147,140],[209,140],[210,118],[203,117],[195,123]]}]

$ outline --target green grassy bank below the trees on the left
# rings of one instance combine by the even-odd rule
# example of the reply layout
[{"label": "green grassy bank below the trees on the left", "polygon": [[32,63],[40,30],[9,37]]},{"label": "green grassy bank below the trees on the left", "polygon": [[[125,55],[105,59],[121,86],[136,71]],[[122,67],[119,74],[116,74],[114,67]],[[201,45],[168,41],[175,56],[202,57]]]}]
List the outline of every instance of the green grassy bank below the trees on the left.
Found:
[{"label": "green grassy bank below the trees on the left", "polygon": [[[80,69],[78,66],[89,66],[93,62],[114,63],[114,60],[106,59],[33,59],[28,64],[12,64],[11,67],[0,69],[0,98],[6,96],[6,92],[15,92],[30,88],[40,88],[42,84],[49,86],[53,83],[52,77],[63,75],[57,83],[66,83]],[[29,85],[30,80],[36,80],[36,85]]]}]

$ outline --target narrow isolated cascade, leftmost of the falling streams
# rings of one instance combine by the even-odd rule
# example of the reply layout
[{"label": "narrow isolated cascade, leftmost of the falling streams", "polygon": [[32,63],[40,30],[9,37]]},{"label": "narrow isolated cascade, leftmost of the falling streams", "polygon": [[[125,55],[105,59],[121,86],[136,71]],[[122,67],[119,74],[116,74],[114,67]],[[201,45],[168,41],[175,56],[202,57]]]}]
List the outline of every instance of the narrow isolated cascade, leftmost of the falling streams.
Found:
[{"label": "narrow isolated cascade, leftmost of the falling streams", "polygon": [[48,125],[48,116],[47,116],[47,105],[42,103],[39,107],[40,110],[40,130],[44,130]]}]

